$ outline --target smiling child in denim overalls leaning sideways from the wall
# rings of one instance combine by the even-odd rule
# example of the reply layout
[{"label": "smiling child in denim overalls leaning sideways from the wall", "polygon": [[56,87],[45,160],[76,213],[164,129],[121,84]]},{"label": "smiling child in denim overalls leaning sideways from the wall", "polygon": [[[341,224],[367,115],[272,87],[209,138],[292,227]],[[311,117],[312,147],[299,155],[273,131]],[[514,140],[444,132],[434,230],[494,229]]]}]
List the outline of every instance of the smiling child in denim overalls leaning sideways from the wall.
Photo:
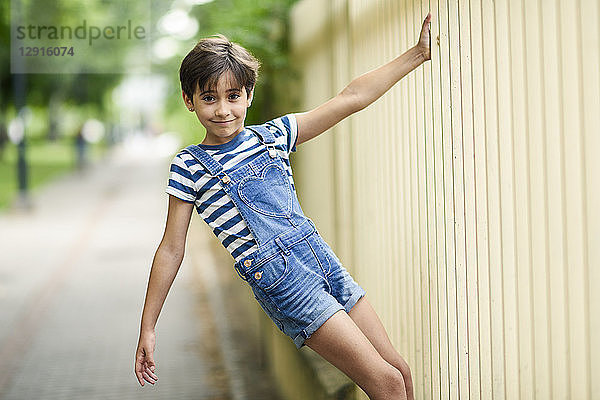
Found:
[{"label": "smiling child in denim overalls leaning sideways from the wall", "polygon": [[[152,263],[135,373],[154,384],[154,328],[182,262],[192,210],[213,229],[239,276],[297,348],[309,346],[371,399],[412,399],[410,369],[360,287],[298,203],[289,154],[365,108],[431,59],[428,14],[417,45],[354,79],[314,110],[244,127],[258,61],[222,35],[201,40],[180,68],[183,100],[206,128],[171,164],[164,236]],[[344,311],[344,312],[339,312]]]}]

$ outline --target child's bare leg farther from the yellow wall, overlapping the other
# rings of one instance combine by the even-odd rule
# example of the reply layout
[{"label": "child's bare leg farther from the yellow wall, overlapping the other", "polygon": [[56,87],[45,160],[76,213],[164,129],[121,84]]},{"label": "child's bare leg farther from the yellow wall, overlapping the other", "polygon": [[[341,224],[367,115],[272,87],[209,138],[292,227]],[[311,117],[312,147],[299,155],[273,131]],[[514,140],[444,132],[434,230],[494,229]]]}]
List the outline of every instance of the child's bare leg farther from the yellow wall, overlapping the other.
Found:
[{"label": "child's bare leg farther from the yellow wall, overlapping the other", "polygon": [[336,312],[304,343],[348,375],[370,399],[406,399],[402,374],[381,357],[345,311]]}]

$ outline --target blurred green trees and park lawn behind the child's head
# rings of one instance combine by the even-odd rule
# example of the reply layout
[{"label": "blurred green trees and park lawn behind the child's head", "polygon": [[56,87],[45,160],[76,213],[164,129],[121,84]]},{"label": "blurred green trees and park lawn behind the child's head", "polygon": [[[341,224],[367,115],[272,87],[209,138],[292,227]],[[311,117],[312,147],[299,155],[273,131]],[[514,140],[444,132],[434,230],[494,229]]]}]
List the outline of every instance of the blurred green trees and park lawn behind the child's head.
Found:
[{"label": "blurred green trees and park lawn behind the child's head", "polygon": [[[223,33],[261,60],[261,91],[249,110],[249,123],[287,109],[280,105],[289,94],[278,89],[293,75],[287,49],[287,12],[293,2],[3,2],[0,208],[26,202],[29,190],[83,168],[132,137],[167,134],[181,144],[202,141],[202,126],[182,106],[178,75],[181,60],[201,37]],[[101,38],[87,46],[90,26],[116,28],[132,20],[143,28],[143,40]],[[60,35],[61,27],[76,30],[84,21],[86,31],[81,32],[88,38],[83,40],[50,40],[48,31],[28,30],[52,26]],[[70,48],[75,42],[76,57],[11,59],[11,23],[15,54],[21,54],[21,46],[41,51],[45,45]],[[18,31],[18,26],[25,29]],[[16,40],[17,32],[36,40]],[[29,73],[11,74],[20,71]]]}]

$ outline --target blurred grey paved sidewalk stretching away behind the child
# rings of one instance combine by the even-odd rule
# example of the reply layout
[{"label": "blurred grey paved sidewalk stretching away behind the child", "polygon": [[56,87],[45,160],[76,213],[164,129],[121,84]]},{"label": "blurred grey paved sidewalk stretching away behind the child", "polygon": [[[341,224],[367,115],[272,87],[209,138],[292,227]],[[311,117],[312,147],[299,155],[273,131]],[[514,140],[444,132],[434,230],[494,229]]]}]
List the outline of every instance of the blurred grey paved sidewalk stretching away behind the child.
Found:
[{"label": "blurred grey paved sidewalk stretching away behind the child", "polygon": [[0,214],[0,399],[217,400],[239,397],[232,382],[246,384],[228,375],[217,340],[226,324],[212,318],[213,295],[187,255],[157,325],[159,381],[141,388],[135,379],[167,207],[170,156],[157,154],[177,144],[129,144],[36,193],[31,213]]}]

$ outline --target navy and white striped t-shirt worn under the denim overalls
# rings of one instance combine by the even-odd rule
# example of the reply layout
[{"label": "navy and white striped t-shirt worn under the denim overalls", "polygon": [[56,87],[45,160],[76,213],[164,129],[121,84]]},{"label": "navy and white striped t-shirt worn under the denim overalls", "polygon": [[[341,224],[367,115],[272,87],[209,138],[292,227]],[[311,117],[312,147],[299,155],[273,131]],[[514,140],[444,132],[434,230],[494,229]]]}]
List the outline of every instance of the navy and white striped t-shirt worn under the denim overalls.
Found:
[{"label": "navy and white striped t-shirt worn under the denim overalls", "polygon": [[[275,136],[275,149],[283,159],[295,193],[289,155],[296,151],[296,116],[287,114],[263,125],[277,128],[272,131]],[[198,146],[221,163],[225,172],[229,172],[252,161],[265,145],[254,132],[244,129],[227,143]],[[212,228],[213,233],[236,262],[258,249],[246,222],[221,187],[219,179],[211,177],[191,154],[180,151],[173,158],[166,192],[183,201],[194,203],[198,214]]]}]

